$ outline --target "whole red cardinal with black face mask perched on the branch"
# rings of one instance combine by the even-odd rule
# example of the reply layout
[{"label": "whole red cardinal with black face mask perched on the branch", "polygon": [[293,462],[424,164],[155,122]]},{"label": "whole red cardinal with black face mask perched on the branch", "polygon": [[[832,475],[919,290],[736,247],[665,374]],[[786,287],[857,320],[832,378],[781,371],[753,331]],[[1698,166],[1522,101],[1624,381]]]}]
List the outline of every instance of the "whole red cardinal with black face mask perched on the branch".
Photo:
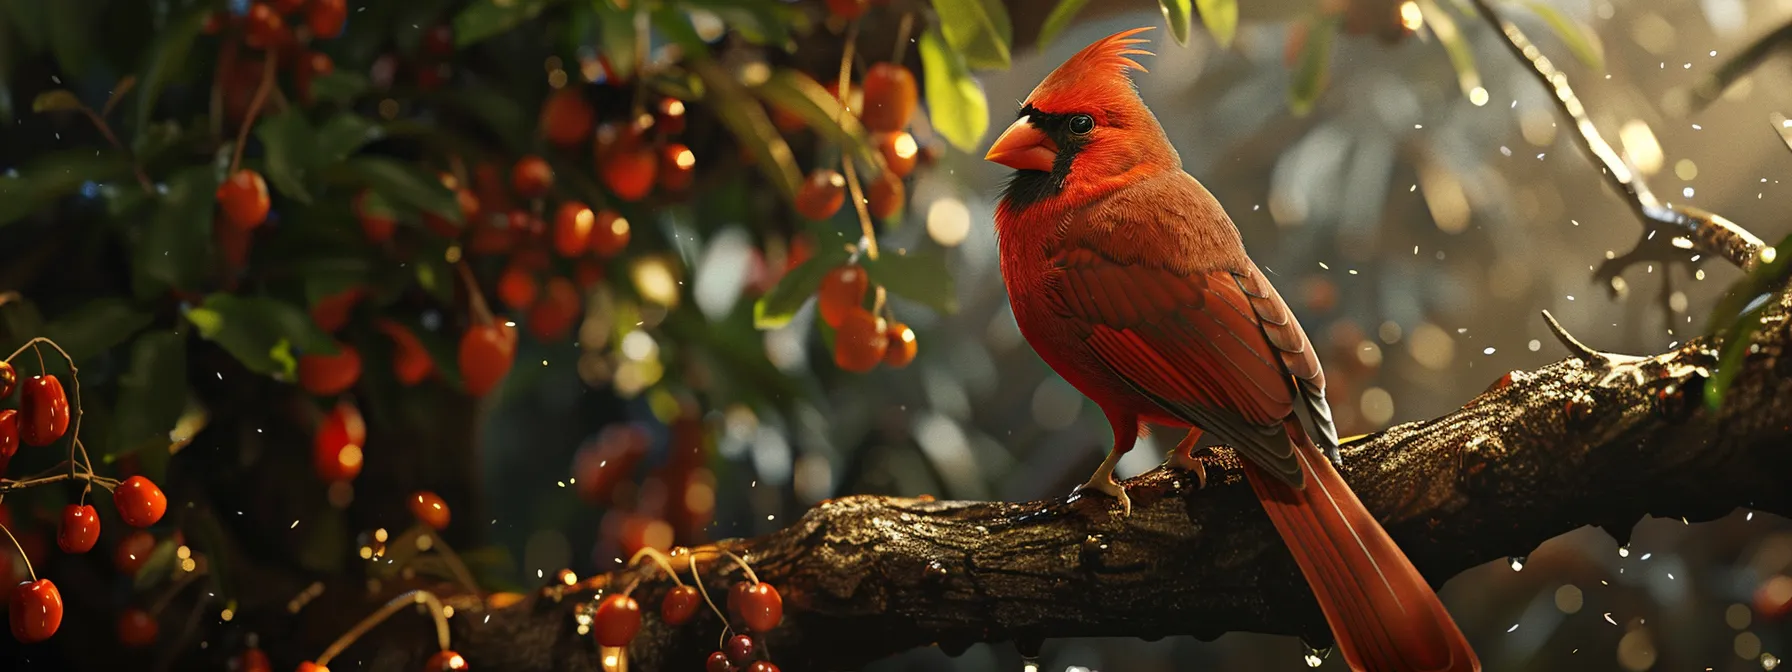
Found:
[{"label": "whole red cardinal with black face mask perched on the branch", "polygon": [[1129,56],[1149,56],[1134,47],[1142,30],[1052,72],[986,156],[1014,168],[996,237],[1020,332],[1115,430],[1079,489],[1131,513],[1113,468],[1142,423],[1188,426],[1172,461],[1192,468],[1210,432],[1244,457],[1351,668],[1480,670],[1437,593],[1331,466],[1339,439],[1306,333],[1133,90],[1127,70],[1145,68]]}]

